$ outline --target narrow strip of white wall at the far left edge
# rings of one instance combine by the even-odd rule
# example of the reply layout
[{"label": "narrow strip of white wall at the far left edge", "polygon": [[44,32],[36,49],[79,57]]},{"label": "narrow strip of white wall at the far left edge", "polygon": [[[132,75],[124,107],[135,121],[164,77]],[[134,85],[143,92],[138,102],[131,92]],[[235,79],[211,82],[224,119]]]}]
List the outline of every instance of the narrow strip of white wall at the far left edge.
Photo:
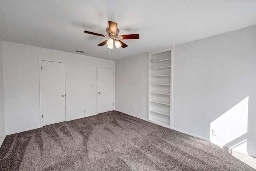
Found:
[{"label": "narrow strip of white wall at the far left edge", "polygon": [[2,40],[0,39],[0,147],[5,137],[4,121],[4,74],[3,74],[3,56]]}]

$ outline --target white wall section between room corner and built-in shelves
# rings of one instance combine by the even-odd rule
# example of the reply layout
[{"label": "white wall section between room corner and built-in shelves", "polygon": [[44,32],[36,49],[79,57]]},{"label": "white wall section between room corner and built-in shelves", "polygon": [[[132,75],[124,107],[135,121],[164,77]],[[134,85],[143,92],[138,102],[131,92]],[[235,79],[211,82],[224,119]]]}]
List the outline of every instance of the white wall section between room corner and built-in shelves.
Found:
[{"label": "white wall section between room corner and built-in shelves", "polygon": [[148,119],[147,53],[116,61],[116,110]]}]

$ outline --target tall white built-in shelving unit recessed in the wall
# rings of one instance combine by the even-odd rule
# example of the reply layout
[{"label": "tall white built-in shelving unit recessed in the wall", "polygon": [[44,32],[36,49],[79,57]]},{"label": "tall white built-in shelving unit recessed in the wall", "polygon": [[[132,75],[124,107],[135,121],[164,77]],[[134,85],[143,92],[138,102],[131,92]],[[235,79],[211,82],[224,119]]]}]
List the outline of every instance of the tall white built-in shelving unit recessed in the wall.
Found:
[{"label": "tall white built-in shelving unit recessed in the wall", "polygon": [[149,53],[149,121],[171,127],[171,52],[166,48]]}]

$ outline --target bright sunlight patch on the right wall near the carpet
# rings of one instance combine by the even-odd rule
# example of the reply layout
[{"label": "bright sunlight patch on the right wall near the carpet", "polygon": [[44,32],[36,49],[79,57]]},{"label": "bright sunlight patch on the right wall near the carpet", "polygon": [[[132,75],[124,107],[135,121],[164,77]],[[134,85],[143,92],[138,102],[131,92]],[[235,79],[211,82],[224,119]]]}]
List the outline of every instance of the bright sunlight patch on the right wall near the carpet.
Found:
[{"label": "bright sunlight patch on the right wall near the carpet", "polygon": [[211,142],[246,153],[248,102],[246,97],[210,123]]}]

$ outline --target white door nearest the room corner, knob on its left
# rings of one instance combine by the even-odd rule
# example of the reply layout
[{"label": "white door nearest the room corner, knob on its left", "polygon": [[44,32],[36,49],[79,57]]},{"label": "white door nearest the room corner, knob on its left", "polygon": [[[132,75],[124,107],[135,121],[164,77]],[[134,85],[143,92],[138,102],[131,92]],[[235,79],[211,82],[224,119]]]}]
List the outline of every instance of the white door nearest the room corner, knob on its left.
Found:
[{"label": "white door nearest the room corner, knob on its left", "polygon": [[98,67],[98,113],[114,110],[114,69]]}]

